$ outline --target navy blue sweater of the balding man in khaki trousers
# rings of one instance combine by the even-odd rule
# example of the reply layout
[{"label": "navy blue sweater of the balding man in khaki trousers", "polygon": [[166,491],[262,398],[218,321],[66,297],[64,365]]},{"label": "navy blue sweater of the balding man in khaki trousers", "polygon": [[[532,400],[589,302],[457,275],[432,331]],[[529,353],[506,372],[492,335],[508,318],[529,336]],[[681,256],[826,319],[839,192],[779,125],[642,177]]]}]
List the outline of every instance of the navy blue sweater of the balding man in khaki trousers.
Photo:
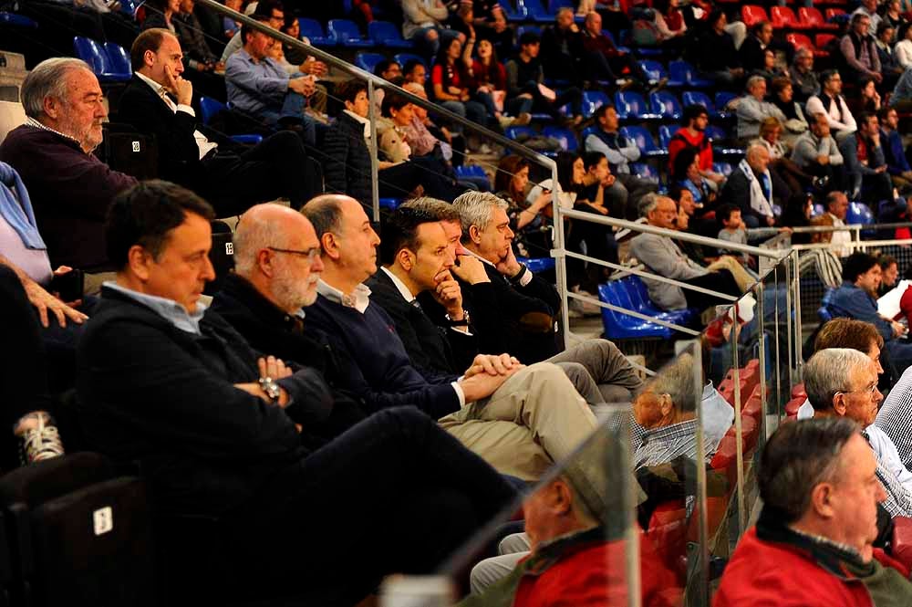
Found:
[{"label": "navy blue sweater of the balding man in khaki trousers", "polygon": [[413,367],[395,323],[378,305],[368,305],[361,314],[321,295],[307,308],[305,332],[311,330],[325,333],[334,350],[355,361],[347,365],[342,382],[368,411],[411,404],[439,419],[459,409],[459,397],[450,385],[457,377],[432,371],[422,375]]}]

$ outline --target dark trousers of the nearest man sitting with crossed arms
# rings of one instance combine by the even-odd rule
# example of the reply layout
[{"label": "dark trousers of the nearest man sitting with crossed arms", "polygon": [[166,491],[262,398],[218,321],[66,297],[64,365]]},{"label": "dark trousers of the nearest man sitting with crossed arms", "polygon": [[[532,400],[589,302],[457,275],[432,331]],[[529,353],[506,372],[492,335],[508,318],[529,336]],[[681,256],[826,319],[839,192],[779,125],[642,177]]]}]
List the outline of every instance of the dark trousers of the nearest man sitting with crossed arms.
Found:
[{"label": "dark trousers of the nearest man sitting with crossed arms", "polygon": [[306,604],[350,605],[386,574],[434,571],[513,497],[434,420],[393,408],[272,483],[253,516],[238,518],[233,546],[258,596],[306,592]]}]

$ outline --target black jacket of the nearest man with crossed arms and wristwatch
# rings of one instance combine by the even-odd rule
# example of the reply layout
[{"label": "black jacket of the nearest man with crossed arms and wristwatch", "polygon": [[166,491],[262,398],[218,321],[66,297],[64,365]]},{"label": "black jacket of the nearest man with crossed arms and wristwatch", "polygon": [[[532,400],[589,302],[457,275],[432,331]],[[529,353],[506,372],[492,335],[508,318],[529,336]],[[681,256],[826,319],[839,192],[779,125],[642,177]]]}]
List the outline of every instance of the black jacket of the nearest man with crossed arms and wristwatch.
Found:
[{"label": "black jacket of the nearest man with crossed arms and wristwatch", "polygon": [[[306,455],[291,417],[239,390],[258,353],[218,314],[202,335],[104,289],[78,346],[78,412],[88,442],[139,462],[164,511],[218,515],[248,501]],[[283,383],[299,404],[331,408],[312,370]],[[290,378],[289,378],[290,379]]]}]

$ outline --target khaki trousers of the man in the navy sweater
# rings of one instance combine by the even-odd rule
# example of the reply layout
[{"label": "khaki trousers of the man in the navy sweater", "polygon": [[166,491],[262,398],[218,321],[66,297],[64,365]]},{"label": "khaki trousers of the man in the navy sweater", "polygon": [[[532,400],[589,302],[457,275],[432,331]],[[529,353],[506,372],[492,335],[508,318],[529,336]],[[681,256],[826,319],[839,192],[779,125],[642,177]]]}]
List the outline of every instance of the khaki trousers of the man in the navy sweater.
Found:
[{"label": "khaki trousers of the man in the navy sweater", "polygon": [[502,474],[537,480],[596,429],[596,416],[565,372],[538,362],[490,397],[440,418],[440,427]]}]

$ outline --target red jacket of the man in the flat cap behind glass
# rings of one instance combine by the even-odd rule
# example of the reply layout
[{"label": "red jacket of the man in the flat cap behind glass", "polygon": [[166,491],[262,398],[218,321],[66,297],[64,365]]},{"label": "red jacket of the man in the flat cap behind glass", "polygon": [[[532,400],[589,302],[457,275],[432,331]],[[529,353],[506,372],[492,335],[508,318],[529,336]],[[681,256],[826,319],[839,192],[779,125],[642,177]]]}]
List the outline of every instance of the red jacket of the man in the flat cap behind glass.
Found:
[{"label": "red jacket of the man in the flat cap behind glass", "polygon": [[[679,605],[681,590],[652,542],[642,533],[640,576],[643,607]],[[513,607],[605,607],[627,604],[623,541],[589,544],[565,554],[540,575],[527,573]]]}]

